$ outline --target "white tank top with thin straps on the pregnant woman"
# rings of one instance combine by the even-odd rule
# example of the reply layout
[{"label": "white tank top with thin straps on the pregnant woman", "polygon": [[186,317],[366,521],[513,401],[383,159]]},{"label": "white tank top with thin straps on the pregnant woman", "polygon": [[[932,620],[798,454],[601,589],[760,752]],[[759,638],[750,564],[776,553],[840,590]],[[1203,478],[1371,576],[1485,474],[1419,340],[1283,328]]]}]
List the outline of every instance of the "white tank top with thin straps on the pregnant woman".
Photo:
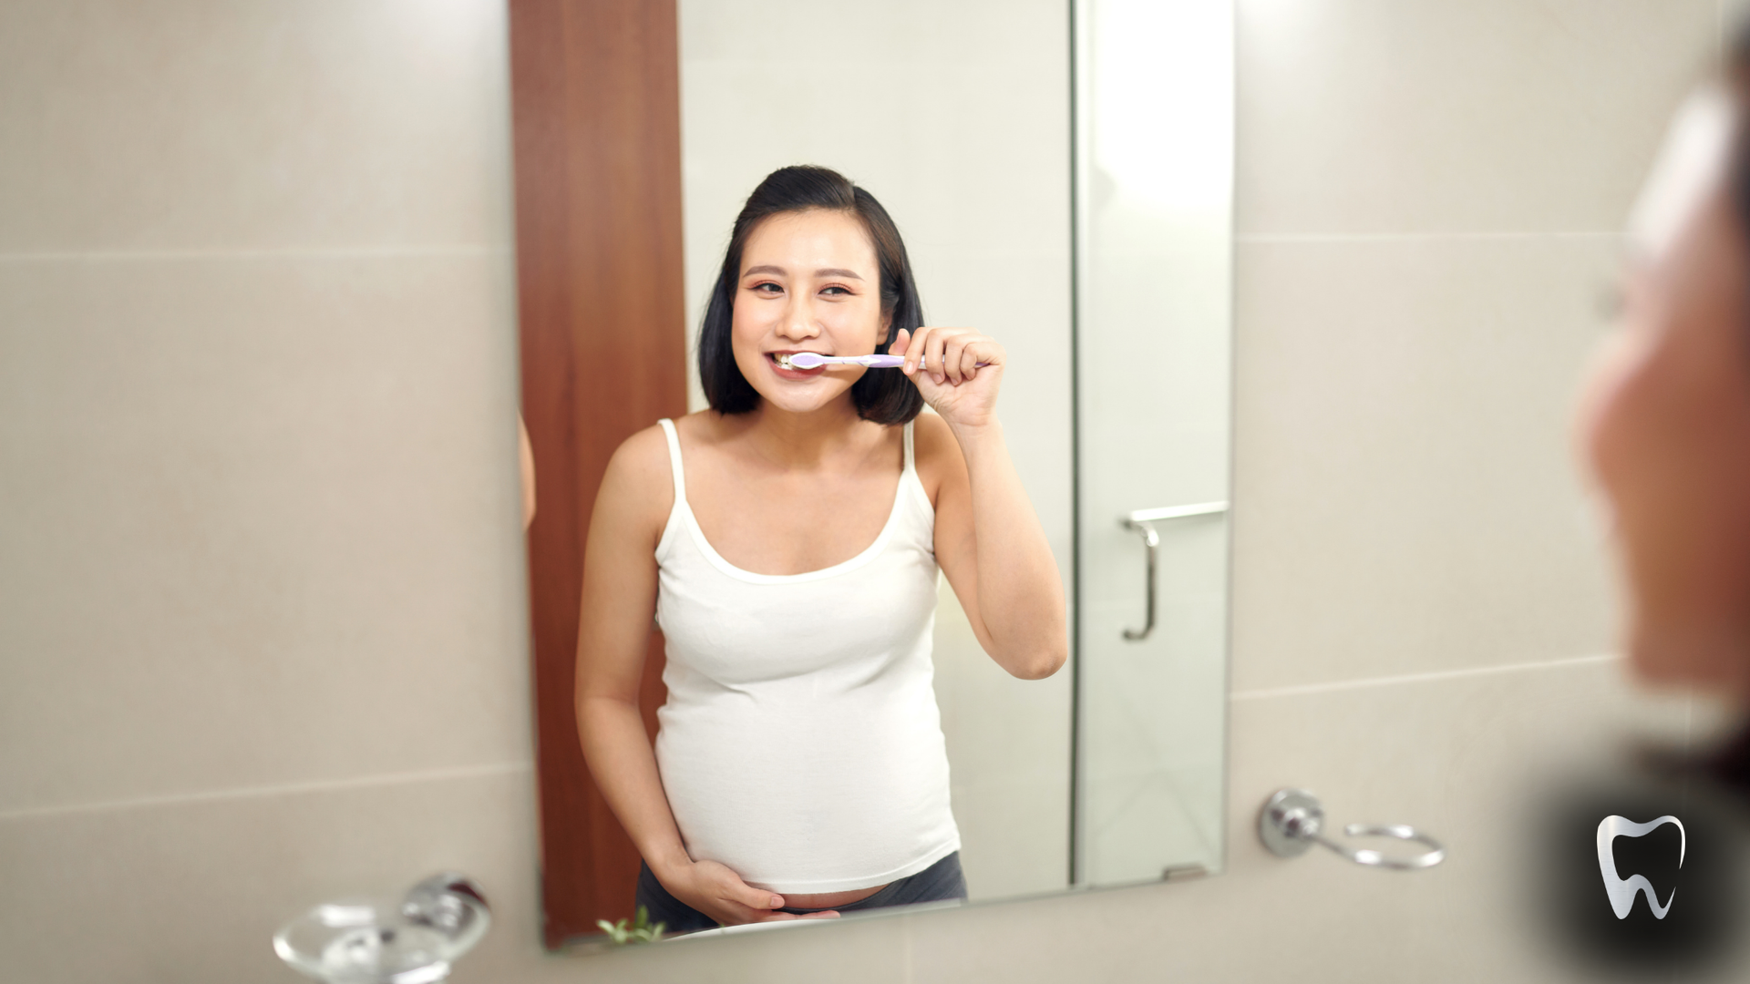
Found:
[{"label": "white tank top with thin straps on the pregnant woman", "polygon": [[868,550],[754,574],[712,550],[662,422],[674,510],[656,545],[668,643],[656,765],[688,854],[754,888],[821,893],[914,875],[961,846],[931,683],[936,513],[912,464]]}]

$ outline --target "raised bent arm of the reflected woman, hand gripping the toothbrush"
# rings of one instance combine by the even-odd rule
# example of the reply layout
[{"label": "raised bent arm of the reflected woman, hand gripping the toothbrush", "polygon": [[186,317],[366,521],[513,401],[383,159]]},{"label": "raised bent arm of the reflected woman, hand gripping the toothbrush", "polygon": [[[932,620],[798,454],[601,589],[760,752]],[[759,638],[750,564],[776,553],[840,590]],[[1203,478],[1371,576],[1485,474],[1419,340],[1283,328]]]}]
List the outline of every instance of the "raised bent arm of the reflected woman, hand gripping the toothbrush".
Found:
[{"label": "raised bent arm of the reflected woman, hand gripping the toothbrush", "polygon": [[942,417],[915,429],[919,457],[940,476],[936,562],[990,658],[1022,679],[1052,676],[1069,658],[1064,587],[996,418],[1003,347],[971,329],[922,327],[901,331],[892,352],[924,361],[905,373]]}]

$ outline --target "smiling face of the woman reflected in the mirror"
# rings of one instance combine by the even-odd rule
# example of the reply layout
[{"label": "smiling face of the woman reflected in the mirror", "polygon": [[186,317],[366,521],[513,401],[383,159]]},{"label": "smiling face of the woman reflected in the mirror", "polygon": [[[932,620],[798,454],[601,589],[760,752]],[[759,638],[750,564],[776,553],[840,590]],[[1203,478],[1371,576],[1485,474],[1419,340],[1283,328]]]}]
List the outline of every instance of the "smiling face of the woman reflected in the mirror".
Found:
[{"label": "smiling face of the woman reflected in the mirror", "polygon": [[861,366],[786,369],[777,355],[868,355],[886,334],[880,266],[863,222],[810,208],[760,222],[742,247],[730,329],[735,364],[765,401],[808,413],[849,399]]}]

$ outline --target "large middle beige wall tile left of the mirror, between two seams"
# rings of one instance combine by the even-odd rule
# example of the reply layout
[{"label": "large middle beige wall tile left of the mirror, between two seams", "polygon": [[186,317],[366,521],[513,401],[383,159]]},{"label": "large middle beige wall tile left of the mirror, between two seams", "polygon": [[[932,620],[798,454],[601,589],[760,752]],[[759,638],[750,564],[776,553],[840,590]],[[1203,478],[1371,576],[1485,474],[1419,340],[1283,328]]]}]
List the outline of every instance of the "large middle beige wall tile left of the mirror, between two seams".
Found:
[{"label": "large middle beige wall tile left of the mirror, between two seams", "polygon": [[511,291],[0,263],[0,812],[527,762]]}]

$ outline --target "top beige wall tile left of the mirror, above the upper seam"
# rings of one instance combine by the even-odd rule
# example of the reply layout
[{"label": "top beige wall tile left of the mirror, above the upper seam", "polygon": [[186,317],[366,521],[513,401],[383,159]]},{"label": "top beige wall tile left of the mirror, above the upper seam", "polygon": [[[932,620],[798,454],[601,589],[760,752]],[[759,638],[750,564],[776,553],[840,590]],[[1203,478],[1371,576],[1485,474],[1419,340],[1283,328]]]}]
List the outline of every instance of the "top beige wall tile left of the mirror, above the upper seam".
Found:
[{"label": "top beige wall tile left of the mirror, above the upper seam", "polygon": [[506,7],[0,9],[0,252],[509,245]]}]

